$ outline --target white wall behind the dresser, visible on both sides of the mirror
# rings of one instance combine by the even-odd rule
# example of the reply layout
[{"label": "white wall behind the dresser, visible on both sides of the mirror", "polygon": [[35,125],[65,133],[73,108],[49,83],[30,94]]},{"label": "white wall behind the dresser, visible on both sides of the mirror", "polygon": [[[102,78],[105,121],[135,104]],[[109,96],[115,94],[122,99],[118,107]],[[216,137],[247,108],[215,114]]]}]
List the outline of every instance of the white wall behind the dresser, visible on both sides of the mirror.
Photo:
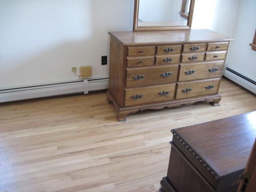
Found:
[{"label": "white wall behind the dresser, visible on both sides of the mirror", "polygon": [[[238,4],[196,0],[192,28],[232,37]],[[108,76],[108,32],[132,30],[133,9],[134,0],[0,0],[0,89],[77,80],[71,67],[85,64]]]}]

